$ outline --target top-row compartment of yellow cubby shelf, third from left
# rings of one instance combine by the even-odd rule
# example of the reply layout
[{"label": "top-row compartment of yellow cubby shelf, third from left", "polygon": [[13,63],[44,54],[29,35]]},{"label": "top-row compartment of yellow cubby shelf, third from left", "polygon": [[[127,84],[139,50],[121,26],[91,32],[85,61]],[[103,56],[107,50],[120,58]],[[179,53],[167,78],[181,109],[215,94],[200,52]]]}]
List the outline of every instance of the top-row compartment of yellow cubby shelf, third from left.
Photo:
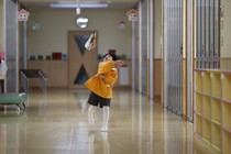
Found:
[{"label": "top-row compartment of yellow cubby shelf, third from left", "polygon": [[211,73],[211,95],[221,97],[221,77],[220,74]]}]

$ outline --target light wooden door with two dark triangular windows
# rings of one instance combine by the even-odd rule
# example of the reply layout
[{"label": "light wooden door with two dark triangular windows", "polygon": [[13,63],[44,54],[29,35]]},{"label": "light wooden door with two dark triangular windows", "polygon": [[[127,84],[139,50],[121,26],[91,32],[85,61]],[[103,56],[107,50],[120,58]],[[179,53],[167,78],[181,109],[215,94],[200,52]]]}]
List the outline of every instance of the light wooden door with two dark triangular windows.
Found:
[{"label": "light wooden door with two dark triangular windows", "polygon": [[98,68],[98,33],[96,47],[85,48],[85,43],[96,31],[68,32],[68,87],[85,88],[85,81],[97,73]]}]

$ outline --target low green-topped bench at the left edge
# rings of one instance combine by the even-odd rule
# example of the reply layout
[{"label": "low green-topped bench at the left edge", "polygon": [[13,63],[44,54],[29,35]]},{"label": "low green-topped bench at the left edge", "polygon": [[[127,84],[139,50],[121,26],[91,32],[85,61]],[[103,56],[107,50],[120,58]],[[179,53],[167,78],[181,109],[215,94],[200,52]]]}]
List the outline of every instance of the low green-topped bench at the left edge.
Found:
[{"label": "low green-topped bench at the left edge", "polygon": [[0,94],[0,105],[9,106],[15,105],[18,106],[20,111],[25,110],[25,94]]}]

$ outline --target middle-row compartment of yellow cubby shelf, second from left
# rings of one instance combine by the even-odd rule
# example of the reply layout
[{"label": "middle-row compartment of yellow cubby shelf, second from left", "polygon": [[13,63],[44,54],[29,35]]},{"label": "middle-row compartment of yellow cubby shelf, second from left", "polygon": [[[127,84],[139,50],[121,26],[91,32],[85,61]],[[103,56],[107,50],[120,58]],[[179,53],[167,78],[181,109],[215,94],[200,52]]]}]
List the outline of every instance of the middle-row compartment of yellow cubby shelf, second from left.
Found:
[{"label": "middle-row compartment of yellow cubby shelf, second from left", "polygon": [[211,99],[208,96],[202,96],[202,116],[211,119]]}]

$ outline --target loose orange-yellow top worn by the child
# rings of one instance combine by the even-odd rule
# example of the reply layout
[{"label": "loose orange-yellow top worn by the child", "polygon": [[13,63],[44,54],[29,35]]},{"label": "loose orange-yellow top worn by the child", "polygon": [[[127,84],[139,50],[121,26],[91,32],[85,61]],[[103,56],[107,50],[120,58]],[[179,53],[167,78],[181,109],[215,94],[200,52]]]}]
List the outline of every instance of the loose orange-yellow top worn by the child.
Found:
[{"label": "loose orange-yellow top worn by the child", "polygon": [[[99,76],[105,75],[105,79]],[[112,88],[118,79],[118,73],[112,61],[99,63],[98,73],[89,78],[85,85],[96,95],[110,99],[112,98]]]}]

